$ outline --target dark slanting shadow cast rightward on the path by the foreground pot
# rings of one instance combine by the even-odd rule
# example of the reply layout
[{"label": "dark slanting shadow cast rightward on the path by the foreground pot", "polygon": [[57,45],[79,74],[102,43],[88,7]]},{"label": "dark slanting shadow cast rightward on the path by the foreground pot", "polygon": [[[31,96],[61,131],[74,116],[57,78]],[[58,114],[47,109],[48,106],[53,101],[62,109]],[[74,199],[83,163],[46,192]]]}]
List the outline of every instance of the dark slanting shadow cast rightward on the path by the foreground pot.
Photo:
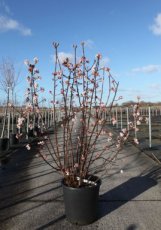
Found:
[{"label": "dark slanting shadow cast rightward on the path by the foreground pot", "polygon": [[[135,200],[137,196],[157,185],[157,181],[152,178],[152,175],[153,173],[151,172],[145,176],[131,178],[125,183],[102,194],[99,198],[99,219],[131,200],[137,202]],[[135,228],[131,226],[129,229]]]}]

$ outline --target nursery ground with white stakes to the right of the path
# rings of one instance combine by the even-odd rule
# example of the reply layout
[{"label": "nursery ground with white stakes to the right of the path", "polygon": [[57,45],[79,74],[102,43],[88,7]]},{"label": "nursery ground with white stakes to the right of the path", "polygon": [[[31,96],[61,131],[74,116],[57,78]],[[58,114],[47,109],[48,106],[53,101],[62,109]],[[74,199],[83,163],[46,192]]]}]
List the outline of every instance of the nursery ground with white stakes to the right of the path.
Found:
[{"label": "nursery ground with white stakes to the right of the path", "polygon": [[[138,125],[139,131],[137,132],[137,139],[139,144],[136,145],[141,151],[146,153],[149,157],[156,161],[161,161],[161,112],[160,108],[150,110],[150,119],[148,107],[141,111],[143,120],[148,119],[149,121],[142,122]],[[116,113],[114,114],[116,116]],[[128,128],[127,121],[130,121],[131,113],[127,116],[126,109],[123,110],[122,114],[117,112],[116,125],[112,125],[110,121],[108,124],[110,127],[119,132],[122,128]],[[151,120],[151,121],[150,121]],[[134,133],[132,133],[134,136]],[[159,163],[158,161],[158,163]]]}]

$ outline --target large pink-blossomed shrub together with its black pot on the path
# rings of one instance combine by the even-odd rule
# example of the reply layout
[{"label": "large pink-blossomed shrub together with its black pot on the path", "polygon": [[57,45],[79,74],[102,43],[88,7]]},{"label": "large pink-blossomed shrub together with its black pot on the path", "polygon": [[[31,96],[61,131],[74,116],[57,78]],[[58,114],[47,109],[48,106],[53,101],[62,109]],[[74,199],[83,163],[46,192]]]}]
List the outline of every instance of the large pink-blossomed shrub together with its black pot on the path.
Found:
[{"label": "large pink-blossomed shrub together with its black pot on the path", "polygon": [[[115,137],[107,126],[113,105],[120,99],[116,97],[119,83],[113,78],[109,68],[101,66],[101,54],[97,54],[93,63],[90,63],[82,42],[82,55],[79,58],[77,46],[74,45],[73,60],[68,57],[60,60],[59,44],[53,43],[53,46],[54,134],[48,135],[44,123],[39,122],[42,127],[37,143],[38,152],[53,170],[62,174],[67,219],[84,225],[97,219],[101,178],[96,173],[117,159],[129,131],[123,129]],[[31,74],[28,80],[33,87],[37,60],[34,64],[29,61],[25,63]],[[35,117],[40,116],[43,121],[38,95],[35,95],[33,88],[29,90],[29,94],[31,97],[27,96],[26,111],[32,111]],[[135,107],[134,114],[138,113],[137,109]],[[62,120],[58,126],[57,114],[60,112]],[[117,122],[115,117],[111,117],[111,120],[113,124]],[[131,127],[134,128],[134,125],[131,124]],[[31,144],[26,147],[30,149]]]}]

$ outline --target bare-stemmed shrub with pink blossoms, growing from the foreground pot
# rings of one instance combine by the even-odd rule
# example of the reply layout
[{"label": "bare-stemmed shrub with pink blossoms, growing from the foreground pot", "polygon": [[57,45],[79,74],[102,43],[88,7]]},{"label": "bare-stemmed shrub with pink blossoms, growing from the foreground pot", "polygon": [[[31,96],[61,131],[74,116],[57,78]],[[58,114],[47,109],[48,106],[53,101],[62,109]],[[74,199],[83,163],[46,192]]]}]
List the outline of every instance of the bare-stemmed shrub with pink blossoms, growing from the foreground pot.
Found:
[{"label": "bare-stemmed shrub with pink blossoms, growing from the foreground pot", "polygon": [[[68,57],[59,59],[58,43],[54,46],[53,72],[53,121],[54,135],[38,143],[39,154],[56,171],[63,174],[65,184],[71,187],[82,187],[92,165],[102,161],[102,166],[110,164],[127,139],[128,131],[123,130],[116,139],[106,127],[110,116],[119,83],[113,78],[108,67],[101,66],[101,54],[94,61],[85,55],[85,44],[81,44],[81,57],[77,55],[77,46],[73,46],[73,60]],[[60,100],[61,98],[61,100]],[[57,125],[58,110],[63,114],[61,126]],[[106,117],[104,117],[106,114]],[[116,122],[111,117],[113,124]],[[97,151],[97,141],[106,135],[101,151]],[[105,154],[116,147],[113,159]],[[43,154],[47,148],[53,163]],[[50,159],[50,157],[49,157]],[[101,167],[102,167],[101,166]]]}]

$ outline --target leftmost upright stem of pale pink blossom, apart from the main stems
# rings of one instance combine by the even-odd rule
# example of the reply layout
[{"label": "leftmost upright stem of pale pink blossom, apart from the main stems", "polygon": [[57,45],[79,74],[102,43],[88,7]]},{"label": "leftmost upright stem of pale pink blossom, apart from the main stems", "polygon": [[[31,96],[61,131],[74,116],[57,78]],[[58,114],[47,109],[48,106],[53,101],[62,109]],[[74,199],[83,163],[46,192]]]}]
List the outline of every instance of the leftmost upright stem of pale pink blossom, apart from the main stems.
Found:
[{"label": "leftmost upright stem of pale pink blossom, apart from the main stems", "polygon": [[[25,126],[25,130],[27,130],[27,136],[41,136],[41,132],[45,128],[44,122],[42,119],[42,115],[40,113],[39,108],[39,92],[44,92],[45,89],[43,87],[39,87],[37,80],[40,80],[41,77],[39,75],[39,70],[36,69],[36,64],[38,63],[38,58],[35,57],[33,59],[33,64],[30,63],[29,60],[25,60],[24,64],[27,66],[29,71],[29,76],[27,76],[28,88],[25,92],[25,101],[26,108],[18,111],[20,115],[17,121],[17,129],[18,133],[16,137],[20,139],[23,137],[22,128]],[[42,101],[45,101],[43,99]],[[28,150],[31,149],[31,144],[27,144],[26,148]]]}]

